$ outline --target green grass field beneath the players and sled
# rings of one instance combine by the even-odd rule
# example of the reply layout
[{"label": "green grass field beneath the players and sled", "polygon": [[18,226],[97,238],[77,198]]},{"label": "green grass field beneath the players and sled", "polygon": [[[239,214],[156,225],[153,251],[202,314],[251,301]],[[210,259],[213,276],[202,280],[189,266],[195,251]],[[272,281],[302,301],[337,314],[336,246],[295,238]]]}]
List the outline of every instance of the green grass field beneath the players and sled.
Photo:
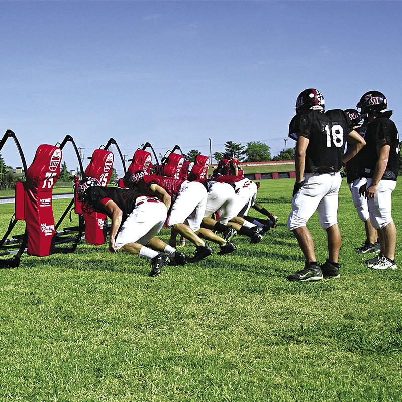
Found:
[{"label": "green grass field beneath the players and sled", "polygon": [[[354,252],[364,227],[344,182],[341,278],[286,281],[304,264],[286,229],[292,187],[261,181],[257,200],[280,219],[262,243],[236,237],[235,253],[157,278],[147,260],[85,242],[1,270],[0,400],[402,400],[400,245],[398,270],[365,267]],[[399,183],[399,231],[400,199]],[[54,201],[60,213],[66,205]],[[12,210],[0,206],[2,233]],[[317,214],[308,226],[322,263]]]}]

